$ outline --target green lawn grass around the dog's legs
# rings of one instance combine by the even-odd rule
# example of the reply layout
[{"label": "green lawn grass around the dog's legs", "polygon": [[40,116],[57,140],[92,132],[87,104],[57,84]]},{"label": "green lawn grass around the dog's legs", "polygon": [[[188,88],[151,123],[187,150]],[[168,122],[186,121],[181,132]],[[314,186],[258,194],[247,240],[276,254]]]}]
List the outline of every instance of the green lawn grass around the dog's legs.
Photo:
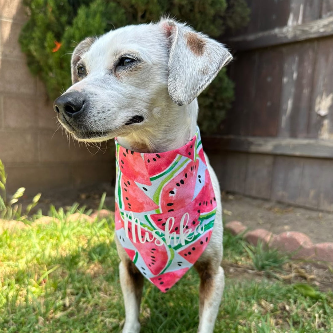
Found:
[{"label": "green lawn grass around the dog's legs", "polygon": [[[114,222],[69,222],[76,209],[52,208],[60,222],[0,234],[0,332],[121,332]],[[267,274],[226,279],[214,332],[333,332],[332,293],[269,278],[289,260],[277,252],[227,232],[224,244],[227,265]],[[146,281],[141,331],[195,333],[198,283],[192,269],[166,294]]]}]

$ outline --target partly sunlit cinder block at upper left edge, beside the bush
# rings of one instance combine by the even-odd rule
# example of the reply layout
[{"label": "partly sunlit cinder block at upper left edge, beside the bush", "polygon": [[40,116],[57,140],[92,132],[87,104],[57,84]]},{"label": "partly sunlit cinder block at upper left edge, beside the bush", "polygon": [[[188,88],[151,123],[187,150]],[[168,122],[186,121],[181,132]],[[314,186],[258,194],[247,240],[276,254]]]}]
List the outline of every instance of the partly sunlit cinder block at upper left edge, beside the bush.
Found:
[{"label": "partly sunlit cinder block at upper left edge, beside the bush", "polygon": [[0,22],[0,27],[2,56],[23,58],[24,56],[21,52],[21,46],[18,42],[22,24],[2,19]]}]

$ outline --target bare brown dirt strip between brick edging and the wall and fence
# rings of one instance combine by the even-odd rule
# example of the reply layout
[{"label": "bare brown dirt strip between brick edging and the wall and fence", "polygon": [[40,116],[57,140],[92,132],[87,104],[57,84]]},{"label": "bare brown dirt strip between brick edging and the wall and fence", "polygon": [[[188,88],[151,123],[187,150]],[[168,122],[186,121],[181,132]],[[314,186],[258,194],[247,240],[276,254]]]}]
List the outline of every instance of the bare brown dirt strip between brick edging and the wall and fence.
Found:
[{"label": "bare brown dirt strip between brick edging and the wall and fence", "polygon": [[[114,209],[114,189],[109,183],[86,186],[80,189],[58,189],[42,193],[38,206],[43,213],[50,204],[56,207],[71,206],[74,202],[96,209],[101,195],[107,192],[105,204]],[[31,198],[25,198],[25,203]],[[300,231],[307,234],[314,243],[333,241],[333,213],[292,207],[276,202],[244,197],[222,195],[224,223],[239,220],[250,229],[265,228],[273,233]]]}]

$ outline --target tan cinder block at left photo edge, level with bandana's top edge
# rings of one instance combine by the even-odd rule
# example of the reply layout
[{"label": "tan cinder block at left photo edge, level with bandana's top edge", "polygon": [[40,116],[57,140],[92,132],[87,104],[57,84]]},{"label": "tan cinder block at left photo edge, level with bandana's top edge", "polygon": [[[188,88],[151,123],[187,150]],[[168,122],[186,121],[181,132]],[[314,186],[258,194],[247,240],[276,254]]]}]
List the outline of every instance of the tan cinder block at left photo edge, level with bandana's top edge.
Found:
[{"label": "tan cinder block at left photo edge, level with bandana's top edge", "polygon": [[0,158],[4,163],[37,161],[37,135],[28,131],[0,131]]}]

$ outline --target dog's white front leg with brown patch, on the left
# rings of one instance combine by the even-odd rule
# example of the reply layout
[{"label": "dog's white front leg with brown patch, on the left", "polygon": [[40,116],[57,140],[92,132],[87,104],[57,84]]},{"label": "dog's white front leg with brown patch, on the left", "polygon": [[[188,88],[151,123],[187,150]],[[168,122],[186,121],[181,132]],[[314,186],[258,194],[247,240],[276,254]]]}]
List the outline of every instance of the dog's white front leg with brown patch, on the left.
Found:
[{"label": "dog's white front leg with brown patch, on the left", "polygon": [[139,333],[143,276],[130,260],[120,262],[119,275],[125,303],[125,324],[122,333]]}]

